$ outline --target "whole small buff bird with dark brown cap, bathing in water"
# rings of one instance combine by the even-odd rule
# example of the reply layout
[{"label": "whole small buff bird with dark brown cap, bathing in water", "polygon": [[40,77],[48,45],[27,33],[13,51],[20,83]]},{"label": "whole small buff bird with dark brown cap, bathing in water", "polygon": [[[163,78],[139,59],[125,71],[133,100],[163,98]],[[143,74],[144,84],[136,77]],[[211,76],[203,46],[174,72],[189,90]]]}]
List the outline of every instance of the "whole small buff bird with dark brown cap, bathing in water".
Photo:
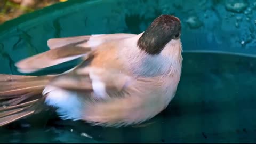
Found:
[{"label": "whole small buff bird with dark brown cap, bathing in water", "polygon": [[74,59],[60,73],[0,75],[0,126],[54,107],[63,120],[103,127],[140,124],[173,99],[182,69],[181,21],[159,15],[140,34],[101,34],[47,41],[48,51],[15,63],[24,74]]}]

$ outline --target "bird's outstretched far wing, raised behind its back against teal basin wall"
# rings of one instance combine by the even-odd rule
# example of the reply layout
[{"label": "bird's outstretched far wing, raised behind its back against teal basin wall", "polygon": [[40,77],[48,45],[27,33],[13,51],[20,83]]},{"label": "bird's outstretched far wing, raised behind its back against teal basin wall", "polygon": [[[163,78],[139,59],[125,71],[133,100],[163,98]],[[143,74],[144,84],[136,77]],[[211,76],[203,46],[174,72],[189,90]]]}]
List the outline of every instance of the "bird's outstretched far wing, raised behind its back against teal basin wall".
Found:
[{"label": "bird's outstretched far wing, raised behind its back against teal basin wall", "polygon": [[52,38],[47,41],[50,50],[22,59],[15,63],[15,66],[22,73],[34,73],[63,62],[81,57],[86,58],[95,47],[102,43],[133,36],[135,34],[102,34]]}]

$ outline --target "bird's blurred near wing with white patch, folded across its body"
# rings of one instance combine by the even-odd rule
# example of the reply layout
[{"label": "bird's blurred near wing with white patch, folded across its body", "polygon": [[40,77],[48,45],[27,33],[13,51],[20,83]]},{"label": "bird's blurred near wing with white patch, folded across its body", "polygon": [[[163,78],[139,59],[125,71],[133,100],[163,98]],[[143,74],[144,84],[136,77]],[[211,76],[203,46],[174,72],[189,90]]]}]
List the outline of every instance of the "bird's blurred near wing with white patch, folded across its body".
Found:
[{"label": "bird's blurred near wing with white patch, folded across its body", "polygon": [[142,95],[153,89],[154,78],[133,77],[118,70],[101,68],[77,68],[70,73],[56,76],[49,85],[81,95],[90,95],[93,100]]}]

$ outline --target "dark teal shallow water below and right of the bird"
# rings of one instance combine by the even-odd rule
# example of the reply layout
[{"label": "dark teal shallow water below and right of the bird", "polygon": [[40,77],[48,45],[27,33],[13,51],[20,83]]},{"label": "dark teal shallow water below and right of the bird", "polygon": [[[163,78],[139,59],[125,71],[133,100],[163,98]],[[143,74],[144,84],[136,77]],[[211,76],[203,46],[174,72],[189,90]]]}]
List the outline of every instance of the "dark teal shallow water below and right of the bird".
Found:
[{"label": "dark teal shallow water below and right of the bird", "polygon": [[183,58],[177,95],[166,110],[142,125],[145,127],[102,128],[61,121],[46,112],[0,128],[0,141],[256,142],[256,59],[186,52]]}]

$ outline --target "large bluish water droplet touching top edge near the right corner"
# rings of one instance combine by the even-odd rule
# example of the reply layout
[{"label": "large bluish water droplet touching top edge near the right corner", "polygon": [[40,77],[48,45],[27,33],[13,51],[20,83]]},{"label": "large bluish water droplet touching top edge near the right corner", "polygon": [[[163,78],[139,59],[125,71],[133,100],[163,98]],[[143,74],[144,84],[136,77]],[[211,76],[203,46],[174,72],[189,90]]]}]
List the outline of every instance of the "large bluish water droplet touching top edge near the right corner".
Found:
[{"label": "large bluish water droplet touching top edge near the right corner", "polygon": [[246,3],[245,1],[227,1],[225,8],[227,11],[230,12],[236,12],[236,13],[241,13],[243,12],[246,7],[248,6],[248,3]]}]

